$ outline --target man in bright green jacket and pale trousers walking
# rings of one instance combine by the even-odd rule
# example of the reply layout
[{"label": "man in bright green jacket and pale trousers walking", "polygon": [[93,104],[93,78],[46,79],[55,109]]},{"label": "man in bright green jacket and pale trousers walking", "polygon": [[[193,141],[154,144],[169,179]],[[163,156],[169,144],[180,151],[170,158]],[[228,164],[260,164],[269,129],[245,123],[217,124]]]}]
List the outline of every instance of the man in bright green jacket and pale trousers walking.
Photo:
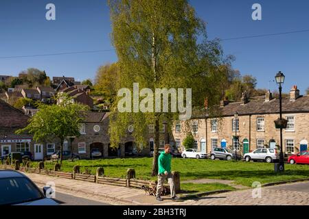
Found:
[{"label": "man in bright green jacket and pale trousers walking", "polygon": [[170,162],[172,156],[170,155],[170,144],[165,144],[164,153],[162,152],[159,155],[159,174],[158,174],[158,185],[157,185],[157,201],[163,201],[161,198],[161,190],[163,188],[163,183],[165,179],[168,179],[168,183],[170,184],[170,196],[172,196],[172,200],[176,201],[179,198],[176,196],[174,181],[172,177],[172,172],[170,171]]}]

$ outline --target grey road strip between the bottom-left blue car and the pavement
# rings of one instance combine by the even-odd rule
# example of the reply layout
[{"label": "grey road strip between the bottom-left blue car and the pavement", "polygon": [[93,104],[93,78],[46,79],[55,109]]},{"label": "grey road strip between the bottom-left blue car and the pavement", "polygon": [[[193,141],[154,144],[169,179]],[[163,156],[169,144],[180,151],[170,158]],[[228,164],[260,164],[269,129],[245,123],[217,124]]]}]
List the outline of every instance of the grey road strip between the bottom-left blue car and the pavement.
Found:
[{"label": "grey road strip between the bottom-left blue car and the pavement", "polygon": [[60,205],[108,205],[98,201],[92,201],[86,198],[72,196],[62,192],[56,192],[56,198],[53,198]]}]

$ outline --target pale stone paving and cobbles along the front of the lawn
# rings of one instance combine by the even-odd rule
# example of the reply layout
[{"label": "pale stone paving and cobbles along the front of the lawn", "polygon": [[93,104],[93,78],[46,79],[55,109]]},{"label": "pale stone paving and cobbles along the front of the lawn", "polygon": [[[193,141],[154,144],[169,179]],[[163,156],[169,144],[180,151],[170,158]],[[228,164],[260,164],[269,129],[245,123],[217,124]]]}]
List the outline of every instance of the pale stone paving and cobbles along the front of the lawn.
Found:
[{"label": "pale stone paving and cobbles along the front of the lawn", "polygon": [[41,188],[48,181],[54,181],[56,196],[57,192],[61,192],[111,205],[309,205],[309,182],[209,194],[176,202],[173,202],[170,196],[163,196],[164,201],[157,202],[155,196],[146,196],[141,189],[62,179],[35,173],[25,173],[25,175]]}]

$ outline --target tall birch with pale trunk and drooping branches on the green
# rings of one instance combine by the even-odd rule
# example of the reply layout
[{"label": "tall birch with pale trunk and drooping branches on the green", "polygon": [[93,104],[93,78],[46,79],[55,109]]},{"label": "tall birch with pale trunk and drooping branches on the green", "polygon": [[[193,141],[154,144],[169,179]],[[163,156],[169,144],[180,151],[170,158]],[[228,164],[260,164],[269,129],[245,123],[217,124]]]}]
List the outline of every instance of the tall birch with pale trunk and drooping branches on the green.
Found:
[{"label": "tall birch with pale trunk and drooping branches on the green", "polygon": [[[139,83],[139,90],[149,88],[153,93],[156,88],[192,88],[194,107],[203,106],[205,98],[209,105],[220,101],[220,92],[212,94],[218,92],[220,78],[226,75],[218,68],[225,65],[225,57],[218,40],[207,40],[205,23],[186,0],[111,0],[109,5],[112,40],[119,60],[116,90],[128,88],[132,93],[133,83]],[[134,127],[132,136],[137,146],[146,145],[148,125],[154,124],[152,175],[157,175],[159,129],[165,123],[170,130],[171,122],[179,119],[179,108],[171,113],[171,105],[168,112],[163,112],[161,106],[161,112],[153,112],[155,102],[150,100],[144,102],[146,112],[133,113],[130,105],[131,112],[118,112],[121,100],[117,96],[111,108],[111,146],[122,142],[129,125]]]}]

